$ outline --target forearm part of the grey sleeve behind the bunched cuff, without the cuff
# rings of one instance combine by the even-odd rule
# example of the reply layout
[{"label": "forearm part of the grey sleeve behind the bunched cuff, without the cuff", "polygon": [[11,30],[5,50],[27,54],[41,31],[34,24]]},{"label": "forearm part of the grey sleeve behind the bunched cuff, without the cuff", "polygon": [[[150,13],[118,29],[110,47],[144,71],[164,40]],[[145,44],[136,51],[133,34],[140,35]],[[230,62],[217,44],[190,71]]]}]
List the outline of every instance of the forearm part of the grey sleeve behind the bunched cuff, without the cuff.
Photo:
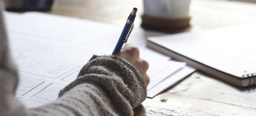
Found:
[{"label": "forearm part of the grey sleeve behind the bunched cuff, without the cuff", "polygon": [[84,83],[73,87],[56,101],[29,112],[44,116],[118,115],[108,95],[101,87]]}]

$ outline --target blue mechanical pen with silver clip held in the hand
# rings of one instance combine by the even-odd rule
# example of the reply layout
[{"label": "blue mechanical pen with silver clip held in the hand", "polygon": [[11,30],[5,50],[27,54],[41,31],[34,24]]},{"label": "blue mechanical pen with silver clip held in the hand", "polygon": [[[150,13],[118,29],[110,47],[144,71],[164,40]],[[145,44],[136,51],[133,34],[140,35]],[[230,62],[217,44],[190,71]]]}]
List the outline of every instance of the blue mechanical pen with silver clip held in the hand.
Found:
[{"label": "blue mechanical pen with silver clip held in the hand", "polygon": [[120,52],[121,48],[123,47],[124,43],[127,42],[128,40],[128,37],[130,36],[131,32],[132,32],[132,29],[134,27],[134,20],[135,20],[135,17],[136,17],[136,12],[137,12],[137,8],[133,8],[132,12],[130,13],[127,21],[126,21],[126,24],[124,26],[124,29],[116,43],[116,46],[115,46],[115,49],[114,51],[112,52],[112,55],[116,54],[117,52]]}]

